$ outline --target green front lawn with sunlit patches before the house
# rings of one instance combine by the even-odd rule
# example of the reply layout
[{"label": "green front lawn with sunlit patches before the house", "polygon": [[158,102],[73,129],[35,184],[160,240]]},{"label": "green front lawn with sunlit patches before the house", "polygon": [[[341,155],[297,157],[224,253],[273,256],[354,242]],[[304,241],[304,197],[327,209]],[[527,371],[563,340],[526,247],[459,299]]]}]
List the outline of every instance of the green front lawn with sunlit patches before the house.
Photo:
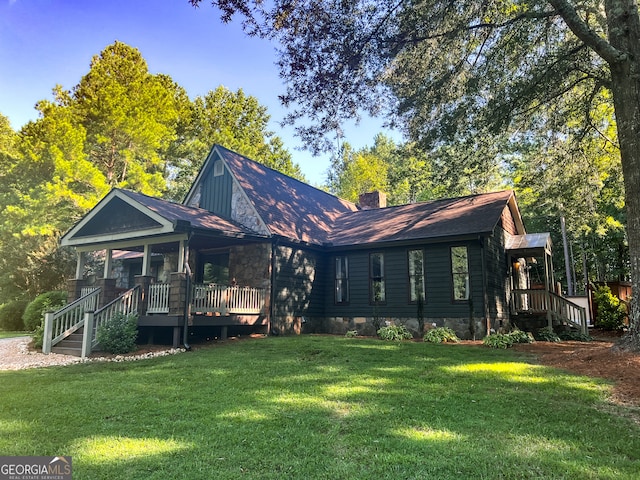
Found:
[{"label": "green front lawn with sunlit patches before the house", "polygon": [[0,372],[2,455],[74,479],[631,479],[610,385],[513,351],[302,336]]}]

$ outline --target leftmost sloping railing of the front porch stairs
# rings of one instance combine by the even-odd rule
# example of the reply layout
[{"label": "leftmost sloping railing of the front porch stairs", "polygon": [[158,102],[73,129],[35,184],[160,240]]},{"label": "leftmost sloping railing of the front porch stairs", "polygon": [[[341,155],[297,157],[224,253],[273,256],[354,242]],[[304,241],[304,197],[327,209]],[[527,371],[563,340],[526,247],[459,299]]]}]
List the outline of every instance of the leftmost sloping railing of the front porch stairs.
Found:
[{"label": "leftmost sloping railing of the front porch stairs", "polygon": [[49,312],[44,317],[42,352],[51,353],[51,347],[84,326],[85,313],[96,309],[100,288],[92,288],[79,299],[65,305],[57,312]]}]

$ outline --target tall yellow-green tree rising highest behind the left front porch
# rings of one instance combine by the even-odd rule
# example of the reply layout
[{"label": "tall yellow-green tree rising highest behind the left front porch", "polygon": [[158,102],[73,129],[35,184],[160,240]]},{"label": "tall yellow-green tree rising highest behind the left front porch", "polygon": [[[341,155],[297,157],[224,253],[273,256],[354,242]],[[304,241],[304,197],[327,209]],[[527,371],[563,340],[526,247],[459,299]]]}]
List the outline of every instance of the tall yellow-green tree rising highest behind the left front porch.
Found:
[{"label": "tall yellow-green tree rising highest behind the left front porch", "polygon": [[115,42],[93,57],[70,105],[87,131],[85,150],[109,185],[164,193],[161,153],[174,139],[180,98],[166,75],[149,73],[136,48]]}]

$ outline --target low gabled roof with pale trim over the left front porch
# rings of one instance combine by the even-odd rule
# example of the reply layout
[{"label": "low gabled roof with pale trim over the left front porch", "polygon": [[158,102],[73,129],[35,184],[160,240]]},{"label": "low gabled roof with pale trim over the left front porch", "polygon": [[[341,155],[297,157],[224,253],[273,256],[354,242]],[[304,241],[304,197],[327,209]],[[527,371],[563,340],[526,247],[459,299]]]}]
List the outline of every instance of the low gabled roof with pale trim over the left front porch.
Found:
[{"label": "low gabled roof with pale trim over the left front porch", "polygon": [[184,232],[185,227],[226,236],[255,235],[251,230],[201,208],[114,188],[60,240],[87,245]]}]

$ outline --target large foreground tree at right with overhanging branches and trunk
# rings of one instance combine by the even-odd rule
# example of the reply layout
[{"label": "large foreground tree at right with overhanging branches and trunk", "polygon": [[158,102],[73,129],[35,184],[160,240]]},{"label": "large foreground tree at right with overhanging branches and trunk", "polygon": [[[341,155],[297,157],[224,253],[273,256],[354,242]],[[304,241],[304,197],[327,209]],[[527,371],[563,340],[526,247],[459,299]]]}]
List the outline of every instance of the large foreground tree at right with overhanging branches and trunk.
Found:
[{"label": "large foreground tree at right with overhanging branches and trunk", "polygon": [[[198,5],[201,0],[191,0]],[[386,108],[432,144],[504,131],[575,86],[584,111],[612,93],[624,174],[634,292],[640,291],[640,15],[635,0],[213,0],[230,21],[274,38],[290,119],[303,138]],[[387,95],[381,95],[386,93]],[[391,95],[389,95],[391,94]],[[385,102],[386,99],[390,101]],[[588,122],[585,121],[588,128]],[[629,339],[640,348],[639,295]]]}]

